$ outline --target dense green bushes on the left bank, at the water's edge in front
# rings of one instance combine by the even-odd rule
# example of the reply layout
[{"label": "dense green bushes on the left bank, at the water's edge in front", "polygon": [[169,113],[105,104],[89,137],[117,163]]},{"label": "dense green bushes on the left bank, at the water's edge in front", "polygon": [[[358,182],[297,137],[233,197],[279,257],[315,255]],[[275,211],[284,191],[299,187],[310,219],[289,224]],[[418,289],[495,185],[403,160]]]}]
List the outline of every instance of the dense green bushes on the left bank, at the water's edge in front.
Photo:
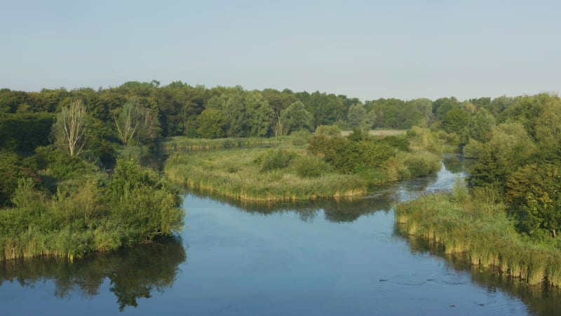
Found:
[{"label": "dense green bushes on the left bank, at the water's edge in front", "polygon": [[32,256],[86,256],[180,230],[180,198],[157,173],[119,159],[113,178],[104,173],[75,176],[55,194],[20,178],[0,211],[0,261]]}]

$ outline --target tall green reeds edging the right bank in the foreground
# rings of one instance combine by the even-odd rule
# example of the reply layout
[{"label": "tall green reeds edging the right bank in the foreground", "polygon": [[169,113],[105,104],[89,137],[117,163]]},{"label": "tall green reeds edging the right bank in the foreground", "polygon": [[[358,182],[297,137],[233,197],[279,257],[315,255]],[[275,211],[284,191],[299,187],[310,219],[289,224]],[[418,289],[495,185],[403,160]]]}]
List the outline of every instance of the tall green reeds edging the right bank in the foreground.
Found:
[{"label": "tall green reeds edging the right bank in the foreground", "polygon": [[473,265],[520,279],[529,285],[561,286],[561,251],[522,238],[501,204],[457,194],[434,194],[396,207],[400,232],[445,246],[446,254],[467,254]]}]

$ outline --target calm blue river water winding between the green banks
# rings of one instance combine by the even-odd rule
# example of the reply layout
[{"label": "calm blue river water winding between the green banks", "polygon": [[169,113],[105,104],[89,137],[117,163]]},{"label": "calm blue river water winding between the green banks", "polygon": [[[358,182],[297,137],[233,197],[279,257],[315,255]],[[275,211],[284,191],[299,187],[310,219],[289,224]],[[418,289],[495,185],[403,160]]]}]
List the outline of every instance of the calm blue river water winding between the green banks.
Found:
[{"label": "calm blue river water winding between the green banks", "polygon": [[70,264],[0,263],[0,315],[555,315],[557,291],[472,268],[399,235],[392,207],[437,176],[353,202],[255,205],[185,195],[180,239]]}]

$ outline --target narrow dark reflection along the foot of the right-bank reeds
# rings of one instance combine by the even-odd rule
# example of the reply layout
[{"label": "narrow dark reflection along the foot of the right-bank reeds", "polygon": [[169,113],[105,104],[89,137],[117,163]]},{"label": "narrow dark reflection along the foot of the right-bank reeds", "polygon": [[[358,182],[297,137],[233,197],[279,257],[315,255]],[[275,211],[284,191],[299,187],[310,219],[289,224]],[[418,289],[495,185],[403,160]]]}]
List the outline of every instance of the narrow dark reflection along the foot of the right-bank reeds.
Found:
[{"label": "narrow dark reflection along the foot of the right-bank reeds", "polygon": [[[442,244],[431,242],[428,239],[418,238],[400,232],[396,226],[394,234],[407,241],[413,254],[431,256],[444,261],[445,268],[454,272],[468,273],[471,282],[485,289],[489,302],[499,293],[503,292],[513,298],[520,298],[532,312],[532,315],[559,315],[561,310],[561,290],[555,287],[529,286],[518,279],[501,275],[494,270],[479,268],[472,265],[468,256],[445,254]],[[496,311],[498,314],[508,313],[506,310]]]}]

